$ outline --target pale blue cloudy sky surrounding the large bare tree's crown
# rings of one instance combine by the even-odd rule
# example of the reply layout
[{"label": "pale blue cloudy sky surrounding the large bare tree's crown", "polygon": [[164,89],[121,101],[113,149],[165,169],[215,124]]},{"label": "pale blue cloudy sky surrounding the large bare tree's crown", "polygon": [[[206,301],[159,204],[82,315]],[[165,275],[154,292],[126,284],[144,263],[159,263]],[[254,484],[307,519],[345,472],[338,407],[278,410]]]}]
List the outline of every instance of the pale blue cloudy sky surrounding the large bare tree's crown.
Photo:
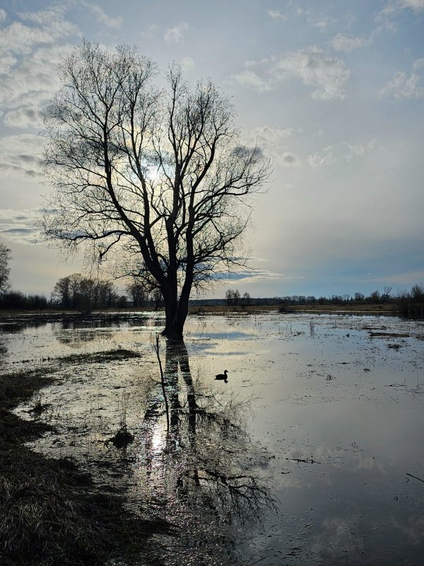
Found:
[{"label": "pale blue cloudy sky surrounding the large bare tree's crown", "polygon": [[49,296],[81,258],[35,228],[57,64],[86,38],[211,78],[273,161],[245,241],[252,273],[207,296],[370,294],[424,282],[424,0],[6,0],[0,4],[0,242],[11,284]]}]

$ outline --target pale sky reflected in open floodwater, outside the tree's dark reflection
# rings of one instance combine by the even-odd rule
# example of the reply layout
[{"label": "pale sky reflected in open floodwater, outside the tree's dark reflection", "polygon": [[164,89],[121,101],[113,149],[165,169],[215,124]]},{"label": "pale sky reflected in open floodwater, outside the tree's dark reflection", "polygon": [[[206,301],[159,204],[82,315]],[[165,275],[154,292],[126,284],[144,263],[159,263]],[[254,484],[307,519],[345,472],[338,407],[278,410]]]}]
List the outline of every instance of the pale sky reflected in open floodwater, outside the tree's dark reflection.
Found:
[{"label": "pale sky reflected in open floodwater, outside the tree's dark reflection", "polygon": [[[24,359],[37,363],[111,347],[143,352],[145,363],[154,360],[151,339],[160,322],[153,317],[69,329],[47,324],[21,333],[4,328],[0,342],[12,369]],[[193,379],[249,399],[248,432],[273,455],[269,473],[278,512],[269,511],[257,531],[240,536],[240,555],[266,566],[394,565],[406,557],[410,565],[422,564],[423,484],[406,474],[424,478],[423,335],[422,324],[389,317],[189,319]],[[81,366],[72,376],[64,371],[64,383],[73,380],[79,391],[79,401],[66,411],[83,421],[112,407],[114,422],[98,432],[104,439],[116,427],[118,388],[125,386],[132,392],[129,422],[136,428],[147,395],[146,368],[157,380],[156,366],[141,362],[89,371]],[[224,369],[228,383],[213,381]],[[88,396],[87,377],[93,384]],[[60,383],[55,387],[51,395],[63,400],[64,410],[72,401]],[[163,421],[160,427],[151,445],[158,458]],[[95,441],[90,450],[99,450]]]}]

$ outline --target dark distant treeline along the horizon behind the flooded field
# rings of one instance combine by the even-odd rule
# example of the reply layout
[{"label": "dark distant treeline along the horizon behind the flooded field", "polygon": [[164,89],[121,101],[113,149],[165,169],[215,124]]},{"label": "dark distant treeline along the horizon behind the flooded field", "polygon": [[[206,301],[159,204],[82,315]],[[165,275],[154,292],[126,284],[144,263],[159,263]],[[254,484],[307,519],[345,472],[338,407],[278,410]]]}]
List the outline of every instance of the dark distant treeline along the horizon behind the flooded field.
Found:
[{"label": "dark distant treeline along the horizon behind the flooded field", "polygon": [[[0,293],[0,308],[12,310],[43,310],[47,308],[74,311],[93,311],[107,308],[143,308],[156,310],[163,304],[158,289],[146,288],[133,279],[124,290],[119,290],[110,280],[92,279],[74,273],[63,277],[54,285],[50,298],[39,294],[23,294],[20,291],[6,290]],[[424,318],[424,285],[413,285],[410,291],[392,294],[391,287],[383,291],[372,291],[368,296],[362,293],[352,295],[290,295],[268,298],[254,298],[243,295],[237,289],[228,290],[223,299],[193,299],[191,306],[298,306],[298,305],[354,305],[354,304],[392,304],[394,311],[406,318]]]}]

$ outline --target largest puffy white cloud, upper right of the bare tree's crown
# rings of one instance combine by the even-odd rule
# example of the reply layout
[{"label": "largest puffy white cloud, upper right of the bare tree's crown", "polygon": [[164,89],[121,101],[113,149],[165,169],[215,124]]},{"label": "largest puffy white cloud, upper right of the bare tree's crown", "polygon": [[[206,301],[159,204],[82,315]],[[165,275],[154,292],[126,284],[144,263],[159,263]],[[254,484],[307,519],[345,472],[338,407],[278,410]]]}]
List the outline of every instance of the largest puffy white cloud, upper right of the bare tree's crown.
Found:
[{"label": "largest puffy white cloud, upper right of the bare tree's crown", "polygon": [[312,98],[316,100],[345,98],[344,86],[350,76],[341,59],[331,57],[314,46],[273,57],[269,72],[280,80],[295,76],[305,85],[315,87]]}]

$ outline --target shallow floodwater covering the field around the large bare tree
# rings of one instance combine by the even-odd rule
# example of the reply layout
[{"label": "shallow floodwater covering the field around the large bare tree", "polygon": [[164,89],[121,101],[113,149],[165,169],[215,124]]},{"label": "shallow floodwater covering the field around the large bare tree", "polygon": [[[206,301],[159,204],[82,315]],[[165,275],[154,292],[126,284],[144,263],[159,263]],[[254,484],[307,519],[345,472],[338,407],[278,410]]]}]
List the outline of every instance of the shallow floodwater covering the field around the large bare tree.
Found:
[{"label": "shallow floodwater covering the field around the large bare tree", "polygon": [[[423,323],[191,316],[161,381],[161,316],[1,325],[0,371],[55,377],[39,417],[16,410],[56,427],[33,449],[174,524],[166,566],[423,564]],[[141,357],[89,355],[118,349]]]}]

